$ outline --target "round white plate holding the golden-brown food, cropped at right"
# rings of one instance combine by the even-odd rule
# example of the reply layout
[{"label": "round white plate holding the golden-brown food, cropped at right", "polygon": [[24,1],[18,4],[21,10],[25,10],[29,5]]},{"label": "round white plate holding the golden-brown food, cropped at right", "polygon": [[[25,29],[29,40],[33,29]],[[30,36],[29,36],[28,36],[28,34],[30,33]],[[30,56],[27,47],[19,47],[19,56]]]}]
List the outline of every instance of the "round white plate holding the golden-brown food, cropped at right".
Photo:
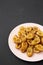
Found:
[{"label": "round white plate holding the golden-brown food, cropped at right", "polygon": [[12,41],[12,38],[15,34],[18,33],[19,31],[19,27],[20,26],[37,26],[39,27],[42,31],[43,31],[43,26],[42,25],[39,25],[39,24],[36,24],[36,23],[23,23],[23,24],[20,24],[18,26],[16,26],[10,33],[9,35],[9,38],[8,38],[8,45],[9,45],[9,48],[10,50],[12,51],[12,53],[17,56],[18,58],[22,59],[22,60],[25,60],[25,61],[31,61],[31,62],[35,62],[35,61],[40,61],[40,60],[43,60],[43,52],[41,53],[38,53],[38,54],[33,54],[32,57],[28,57],[26,55],[26,53],[21,53],[20,50],[16,49],[15,48],[15,44],[14,42]]}]

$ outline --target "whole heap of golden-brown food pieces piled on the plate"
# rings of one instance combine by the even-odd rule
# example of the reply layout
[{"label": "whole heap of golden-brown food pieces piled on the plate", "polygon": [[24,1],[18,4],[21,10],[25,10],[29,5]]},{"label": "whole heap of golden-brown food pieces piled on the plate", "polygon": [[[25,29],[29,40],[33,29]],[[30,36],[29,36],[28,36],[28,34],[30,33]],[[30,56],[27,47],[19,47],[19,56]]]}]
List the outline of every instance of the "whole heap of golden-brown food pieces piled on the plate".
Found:
[{"label": "whole heap of golden-brown food pieces piled on the plate", "polygon": [[33,56],[34,53],[43,52],[43,31],[36,26],[21,26],[18,34],[14,35],[13,41],[15,47],[22,53],[26,52],[28,57]]}]

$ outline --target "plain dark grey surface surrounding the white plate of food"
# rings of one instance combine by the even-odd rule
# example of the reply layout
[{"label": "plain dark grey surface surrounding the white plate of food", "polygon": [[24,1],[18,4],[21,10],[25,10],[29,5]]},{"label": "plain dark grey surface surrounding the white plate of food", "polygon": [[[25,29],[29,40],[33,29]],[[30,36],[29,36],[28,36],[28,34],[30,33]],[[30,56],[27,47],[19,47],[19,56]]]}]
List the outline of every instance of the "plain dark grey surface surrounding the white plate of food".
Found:
[{"label": "plain dark grey surface surrounding the white plate of food", "polygon": [[8,47],[10,31],[18,24],[34,22],[43,25],[43,0],[0,1],[0,65],[42,65],[15,57]]}]

